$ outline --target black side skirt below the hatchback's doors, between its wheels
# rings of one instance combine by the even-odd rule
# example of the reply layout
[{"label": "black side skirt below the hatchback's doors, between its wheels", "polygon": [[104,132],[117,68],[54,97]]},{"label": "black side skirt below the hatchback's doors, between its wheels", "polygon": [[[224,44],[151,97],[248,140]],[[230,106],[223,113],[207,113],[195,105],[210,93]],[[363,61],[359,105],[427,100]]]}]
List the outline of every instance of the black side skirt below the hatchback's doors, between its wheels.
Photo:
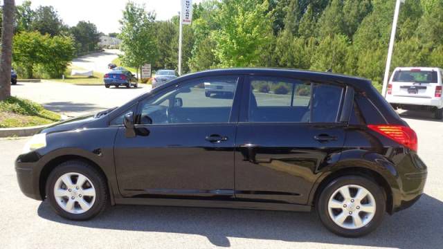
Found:
[{"label": "black side skirt below the hatchback's doors, between its wheels", "polygon": [[118,198],[116,204],[125,205],[164,205],[199,208],[233,208],[252,210],[282,210],[295,212],[310,212],[311,205],[298,205],[286,203],[263,203],[249,201],[214,201],[214,200],[183,200],[183,199],[157,199],[157,198]]}]

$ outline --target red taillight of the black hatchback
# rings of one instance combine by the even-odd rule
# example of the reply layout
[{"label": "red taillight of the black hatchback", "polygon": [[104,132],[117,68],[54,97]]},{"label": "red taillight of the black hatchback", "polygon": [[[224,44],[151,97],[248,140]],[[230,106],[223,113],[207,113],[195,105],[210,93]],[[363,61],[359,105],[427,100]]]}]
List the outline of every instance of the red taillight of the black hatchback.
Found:
[{"label": "red taillight of the black hatchback", "polygon": [[381,135],[386,136],[413,151],[417,151],[418,149],[417,134],[409,127],[390,124],[368,124],[368,127],[369,129],[372,129],[372,131],[377,131]]}]

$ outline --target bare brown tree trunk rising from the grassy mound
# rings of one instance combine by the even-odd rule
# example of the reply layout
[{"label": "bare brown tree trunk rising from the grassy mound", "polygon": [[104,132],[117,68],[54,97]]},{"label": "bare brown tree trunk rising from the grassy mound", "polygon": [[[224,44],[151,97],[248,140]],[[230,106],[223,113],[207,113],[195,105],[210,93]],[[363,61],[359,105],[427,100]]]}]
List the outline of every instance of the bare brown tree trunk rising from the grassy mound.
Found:
[{"label": "bare brown tree trunk rising from the grassy mound", "polygon": [[14,35],[15,1],[3,1],[3,27],[0,55],[0,101],[11,95],[12,37]]}]

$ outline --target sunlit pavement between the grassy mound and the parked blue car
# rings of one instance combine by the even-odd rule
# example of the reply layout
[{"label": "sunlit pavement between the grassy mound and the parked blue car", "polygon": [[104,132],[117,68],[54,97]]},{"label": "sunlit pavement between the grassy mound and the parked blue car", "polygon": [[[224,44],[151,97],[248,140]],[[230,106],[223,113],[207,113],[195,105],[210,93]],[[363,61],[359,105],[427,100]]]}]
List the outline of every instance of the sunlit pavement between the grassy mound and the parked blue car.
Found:
[{"label": "sunlit pavement between the grassy mound and the parked blue car", "polygon": [[150,85],[145,84],[138,84],[138,89],[106,89],[105,86],[78,86],[55,82],[19,82],[11,89],[12,95],[41,103],[47,109],[66,116],[80,116],[117,107],[147,91],[150,91]]}]

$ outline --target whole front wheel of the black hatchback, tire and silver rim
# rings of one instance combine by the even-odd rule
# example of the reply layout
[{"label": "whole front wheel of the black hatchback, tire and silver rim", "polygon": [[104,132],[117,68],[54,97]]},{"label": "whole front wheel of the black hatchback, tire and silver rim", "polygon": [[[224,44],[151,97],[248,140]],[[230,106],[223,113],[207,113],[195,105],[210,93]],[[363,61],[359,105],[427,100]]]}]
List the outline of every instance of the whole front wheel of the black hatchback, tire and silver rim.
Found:
[{"label": "whole front wheel of the black hatchback, tire and silver rim", "polygon": [[72,220],[87,220],[105,210],[109,199],[105,177],[82,161],[55,167],[46,181],[46,196],[53,210]]}]

